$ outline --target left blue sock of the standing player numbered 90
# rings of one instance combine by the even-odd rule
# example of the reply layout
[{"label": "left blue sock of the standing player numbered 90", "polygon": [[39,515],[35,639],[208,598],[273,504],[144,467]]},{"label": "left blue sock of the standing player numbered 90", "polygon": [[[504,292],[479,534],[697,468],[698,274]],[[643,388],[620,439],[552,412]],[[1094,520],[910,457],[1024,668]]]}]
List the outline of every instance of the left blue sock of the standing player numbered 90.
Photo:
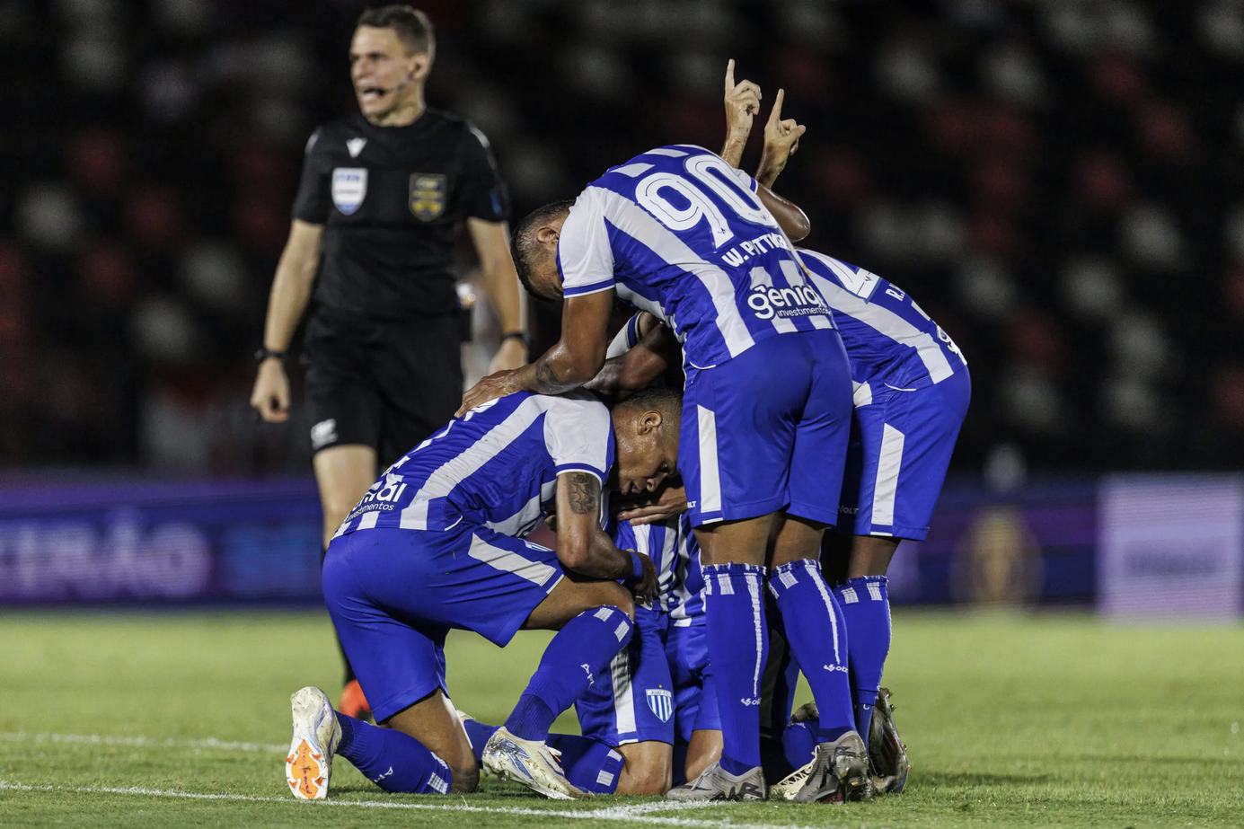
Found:
[{"label": "left blue sock of the standing player numbered 90", "polygon": [[760,677],[769,657],[765,569],[754,564],[704,568],[708,655],[722,718],[722,768],[743,774],[760,766]]}]

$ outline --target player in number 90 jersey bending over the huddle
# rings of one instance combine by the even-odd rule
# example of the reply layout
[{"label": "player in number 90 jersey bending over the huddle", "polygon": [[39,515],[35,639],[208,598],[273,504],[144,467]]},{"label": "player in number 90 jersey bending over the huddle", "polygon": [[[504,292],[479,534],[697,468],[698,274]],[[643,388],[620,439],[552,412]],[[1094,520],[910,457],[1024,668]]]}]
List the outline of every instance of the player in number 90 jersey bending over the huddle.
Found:
[{"label": "player in number 90 jersey bending over the huddle", "polygon": [[[733,62],[728,87],[730,75]],[[610,169],[572,207],[536,210],[515,230],[515,264],[530,293],[564,299],[561,340],[535,363],[484,378],[463,401],[468,408],[592,380],[605,362],[615,294],[657,315],[682,344],[678,471],[707,563],[724,748],[719,763],[669,793],[678,799],[765,797],[758,710],[766,579],[784,616],[799,620],[787,630],[800,663],[821,666],[809,681],[822,742],[802,797],[868,792],[845,625],[817,560],[824,529],[837,519],[850,367],[774,212],[787,225],[802,218],[719,156],[685,144]]]}]

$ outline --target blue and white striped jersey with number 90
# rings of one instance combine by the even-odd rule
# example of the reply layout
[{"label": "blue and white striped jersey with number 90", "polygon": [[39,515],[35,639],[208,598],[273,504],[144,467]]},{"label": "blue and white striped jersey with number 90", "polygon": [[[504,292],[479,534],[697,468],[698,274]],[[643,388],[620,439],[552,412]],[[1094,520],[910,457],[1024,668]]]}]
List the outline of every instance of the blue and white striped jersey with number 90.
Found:
[{"label": "blue and white striped jersey with number 90", "polygon": [[756,182],[688,144],[613,167],[580,193],[557,245],[567,297],[616,289],[708,368],[778,334],[832,329]]}]

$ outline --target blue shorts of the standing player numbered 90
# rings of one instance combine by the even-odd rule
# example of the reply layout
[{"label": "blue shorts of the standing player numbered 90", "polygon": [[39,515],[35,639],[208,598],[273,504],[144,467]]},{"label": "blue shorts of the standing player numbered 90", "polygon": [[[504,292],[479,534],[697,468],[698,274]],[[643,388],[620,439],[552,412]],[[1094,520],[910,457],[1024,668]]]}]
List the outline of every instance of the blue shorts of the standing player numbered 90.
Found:
[{"label": "blue shorts of the standing player numbered 90", "polygon": [[690,368],[678,471],[692,527],[782,508],[832,524],[851,429],[851,368],[833,329],[769,337]]}]

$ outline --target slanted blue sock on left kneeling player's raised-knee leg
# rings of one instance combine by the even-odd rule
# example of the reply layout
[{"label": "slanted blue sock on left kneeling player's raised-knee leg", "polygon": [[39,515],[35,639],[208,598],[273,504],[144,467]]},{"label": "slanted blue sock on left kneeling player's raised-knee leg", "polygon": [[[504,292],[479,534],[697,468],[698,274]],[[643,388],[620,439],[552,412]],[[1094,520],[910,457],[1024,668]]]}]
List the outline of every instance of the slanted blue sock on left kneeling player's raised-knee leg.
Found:
[{"label": "slanted blue sock on left kneeling player's raised-knee leg", "polygon": [[519,739],[544,739],[552,721],[583,696],[631,641],[632,622],[617,607],[585,610],[562,627],[540,658],[505,728]]}]

